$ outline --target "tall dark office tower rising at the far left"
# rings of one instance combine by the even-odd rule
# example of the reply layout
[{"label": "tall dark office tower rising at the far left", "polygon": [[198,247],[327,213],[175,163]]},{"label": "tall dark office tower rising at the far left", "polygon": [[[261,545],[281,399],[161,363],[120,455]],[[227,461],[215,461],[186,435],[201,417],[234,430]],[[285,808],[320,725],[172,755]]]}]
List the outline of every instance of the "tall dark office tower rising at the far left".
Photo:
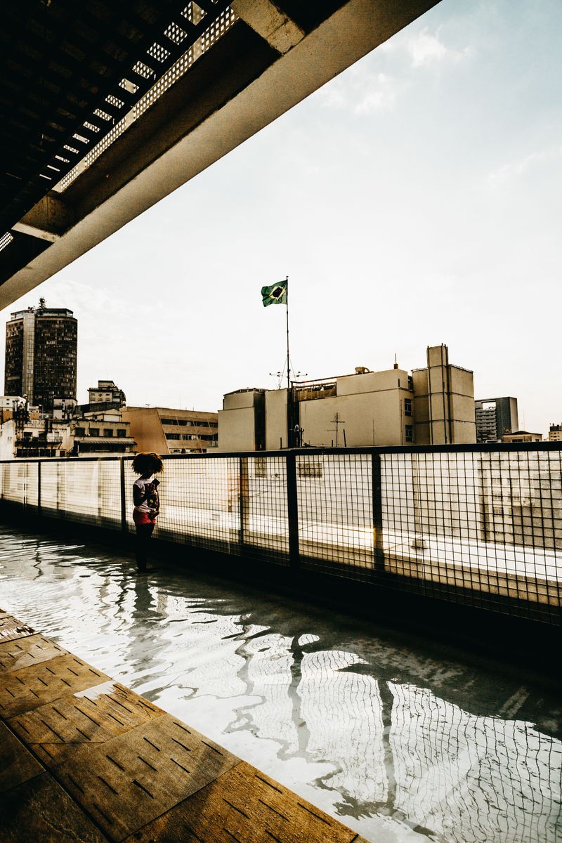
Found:
[{"label": "tall dark office tower rising at the far left", "polygon": [[58,399],[76,400],[78,321],[72,310],[38,308],[11,314],[6,325],[6,395],[52,410]]}]

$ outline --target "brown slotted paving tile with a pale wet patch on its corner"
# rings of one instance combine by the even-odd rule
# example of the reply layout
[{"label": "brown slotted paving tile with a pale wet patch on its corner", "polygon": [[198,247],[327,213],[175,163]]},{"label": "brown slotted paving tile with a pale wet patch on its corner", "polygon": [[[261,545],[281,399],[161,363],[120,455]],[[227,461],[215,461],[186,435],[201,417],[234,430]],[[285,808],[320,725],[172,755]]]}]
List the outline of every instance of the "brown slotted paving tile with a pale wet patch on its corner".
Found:
[{"label": "brown slotted paving tile with a pale wet patch on its corner", "polygon": [[134,691],[110,680],[11,717],[8,722],[45,766],[53,767],[72,760],[79,748],[97,749],[163,713]]}]

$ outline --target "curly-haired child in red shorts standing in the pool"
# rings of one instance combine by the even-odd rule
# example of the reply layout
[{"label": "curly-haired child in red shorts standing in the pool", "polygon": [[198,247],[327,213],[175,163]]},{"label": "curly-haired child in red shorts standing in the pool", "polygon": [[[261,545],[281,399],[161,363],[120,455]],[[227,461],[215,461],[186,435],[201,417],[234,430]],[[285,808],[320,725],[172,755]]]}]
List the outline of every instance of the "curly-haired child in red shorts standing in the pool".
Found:
[{"label": "curly-haired child in red shorts standing in the pool", "polygon": [[140,475],[132,487],[135,505],[132,517],[136,528],[136,566],[139,573],[144,573],[147,570],[148,540],[154,532],[160,513],[160,481],[154,475],[163,471],[163,460],[158,454],[136,454],[132,461],[132,469],[135,474]]}]

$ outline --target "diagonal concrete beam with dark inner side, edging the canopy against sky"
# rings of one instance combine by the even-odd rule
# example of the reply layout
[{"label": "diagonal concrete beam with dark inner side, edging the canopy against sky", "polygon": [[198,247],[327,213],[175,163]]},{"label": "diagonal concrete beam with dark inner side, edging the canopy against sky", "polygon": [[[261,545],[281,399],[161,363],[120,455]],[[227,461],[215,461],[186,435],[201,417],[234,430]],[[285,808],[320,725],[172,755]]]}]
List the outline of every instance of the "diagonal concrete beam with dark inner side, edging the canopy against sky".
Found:
[{"label": "diagonal concrete beam with dark inner side, edging the canopy against sky", "polygon": [[[0,308],[114,234],[438,2],[349,0],[283,55],[238,20],[65,191],[61,198],[72,208],[70,228],[25,266],[10,269],[0,286]],[[229,71],[213,75],[228,56]],[[200,78],[194,98],[185,96]],[[51,231],[43,224],[37,230]],[[13,244],[0,253],[0,266],[3,255],[8,266],[12,263],[12,249]]]}]

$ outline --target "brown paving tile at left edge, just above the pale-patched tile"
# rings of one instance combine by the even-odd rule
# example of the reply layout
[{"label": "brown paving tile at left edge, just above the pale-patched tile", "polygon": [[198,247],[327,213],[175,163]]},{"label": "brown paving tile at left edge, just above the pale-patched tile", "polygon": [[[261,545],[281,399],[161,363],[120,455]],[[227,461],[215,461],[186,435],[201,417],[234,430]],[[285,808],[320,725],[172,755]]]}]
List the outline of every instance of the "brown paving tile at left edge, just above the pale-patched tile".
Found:
[{"label": "brown paving tile at left edge, just above the pale-patched tile", "polygon": [[109,679],[72,655],[1,675],[0,716],[4,719]]}]

